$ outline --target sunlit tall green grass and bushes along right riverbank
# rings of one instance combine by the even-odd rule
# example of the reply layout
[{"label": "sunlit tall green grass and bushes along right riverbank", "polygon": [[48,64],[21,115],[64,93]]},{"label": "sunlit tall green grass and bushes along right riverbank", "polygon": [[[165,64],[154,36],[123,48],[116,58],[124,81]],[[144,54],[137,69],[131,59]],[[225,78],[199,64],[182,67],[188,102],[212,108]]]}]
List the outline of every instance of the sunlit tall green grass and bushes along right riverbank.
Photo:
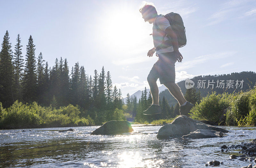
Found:
[{"label": "sunlit tall green grass and bushes along right riverbank", "polygon": [[235,94],[209,93],[191,109],[190,117],[226,125],[256,126],[256,87]]}]

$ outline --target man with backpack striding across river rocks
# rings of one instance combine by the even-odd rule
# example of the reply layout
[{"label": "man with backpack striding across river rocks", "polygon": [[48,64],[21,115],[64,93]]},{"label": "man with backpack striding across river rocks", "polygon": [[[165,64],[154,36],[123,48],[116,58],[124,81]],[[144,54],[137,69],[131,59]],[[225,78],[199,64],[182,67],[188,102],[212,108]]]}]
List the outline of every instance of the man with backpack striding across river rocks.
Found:
[{"label": "man with backpack striding across river rocks", "polygon": [[[182,22],[184,31],[184,37],[180,38],[179,36],[179,42],[183,44],[179,44],[177,35],[172,29],[170,21],[167,20],[165,16],[157,14],[154,4],[144,4],[140,8],[140,13],[145,22],[153,23],[153,33],[151,35],[153,36],[154,48],[148,51],[148,57],[152,57],[155,52],[156,56],[158,56],[158,60],[153,65],[147,78],[153,102],[143,114],[154,115],[161,113],[161,108],[158,103],[158,87],[156,84],[156,80],[159,78],[160,84],[164,84],[175,99],[178,100],[180,104],[180,115],[188,116],[189,111],[194,105],[185,100],[180,91],[180,87],[175,83],[175,62],[181,62],[183,59],[179,52],[179,46],[184,46],[187,42],[183,21],[180,15],[175,13],[175,18],[178,17],[178,19],[181,20],[179,21]],[[172,12],[170,15],[172,17],[174,13]],[[182,40],[185,41],[182,42]]]}]

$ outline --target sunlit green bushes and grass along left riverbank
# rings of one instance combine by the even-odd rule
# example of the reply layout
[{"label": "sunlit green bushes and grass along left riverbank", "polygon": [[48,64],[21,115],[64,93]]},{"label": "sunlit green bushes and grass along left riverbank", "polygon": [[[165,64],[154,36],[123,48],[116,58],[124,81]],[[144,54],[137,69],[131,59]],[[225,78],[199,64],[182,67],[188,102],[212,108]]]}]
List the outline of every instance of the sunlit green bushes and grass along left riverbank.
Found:
[{"label": "sunlit green bushes and grass along left riverbank", "polygon": [[90,116],[84,118],[79,114],[78,107],[73,105],[52,109],[36,102],[23,104],[15,101],[10,108],[4,109],[0,103],[0,129],[94,125]]}]

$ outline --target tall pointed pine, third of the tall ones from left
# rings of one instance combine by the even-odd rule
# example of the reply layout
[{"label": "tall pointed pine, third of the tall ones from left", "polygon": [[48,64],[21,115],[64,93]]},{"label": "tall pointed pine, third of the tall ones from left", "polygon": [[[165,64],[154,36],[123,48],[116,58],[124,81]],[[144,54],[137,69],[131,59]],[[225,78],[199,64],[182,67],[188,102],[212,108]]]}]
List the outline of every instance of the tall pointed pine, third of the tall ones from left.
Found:
[{"label": "tall pointed pine, third of the tall ones from left", "polygon": [[36,56],[33,38],[30,35],[27,45],[26,65],[23,78],[23,100],[31,103],[36,99]]}]

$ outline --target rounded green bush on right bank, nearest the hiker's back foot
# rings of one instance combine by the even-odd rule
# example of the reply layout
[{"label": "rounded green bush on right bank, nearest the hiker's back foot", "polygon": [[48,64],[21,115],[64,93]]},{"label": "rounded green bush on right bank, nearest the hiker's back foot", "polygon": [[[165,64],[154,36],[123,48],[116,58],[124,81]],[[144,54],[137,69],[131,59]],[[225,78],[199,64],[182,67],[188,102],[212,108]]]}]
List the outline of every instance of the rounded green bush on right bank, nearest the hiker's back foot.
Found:
[{"label": "rounded green bush on right bank, nearest the hiker's back foot", "polygon": [[196,120],[208,120],[218,123],[221,116],[225,114],[225,110],[230,106],[232,97],[233,94],[216,94],[216,92],[212,92],[202,98],[199,104],[195,104],[190,110],[190,116]]}]

